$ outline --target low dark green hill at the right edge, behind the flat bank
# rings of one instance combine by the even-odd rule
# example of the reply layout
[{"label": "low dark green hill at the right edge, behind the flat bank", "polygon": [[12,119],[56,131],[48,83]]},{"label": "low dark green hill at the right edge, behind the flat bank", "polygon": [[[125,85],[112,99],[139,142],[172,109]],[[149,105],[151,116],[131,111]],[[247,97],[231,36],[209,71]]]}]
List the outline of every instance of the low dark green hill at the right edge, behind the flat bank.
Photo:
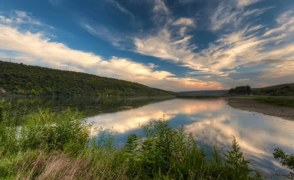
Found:
[{"label": "low dark green hill at the right edge, behind the flat bank", "polygon": [[253,95],[294,96],[294,83],[252,88]]}]

